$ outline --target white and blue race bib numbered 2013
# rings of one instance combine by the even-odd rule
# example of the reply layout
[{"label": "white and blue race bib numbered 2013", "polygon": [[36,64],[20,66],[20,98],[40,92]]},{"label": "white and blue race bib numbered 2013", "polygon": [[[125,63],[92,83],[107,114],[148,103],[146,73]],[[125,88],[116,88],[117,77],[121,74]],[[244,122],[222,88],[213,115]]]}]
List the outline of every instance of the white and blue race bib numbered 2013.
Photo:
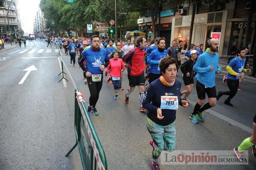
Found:
[{"label": "white and blue race bib numbered 2013", "polygon": [[160,109],[178,109],[178,97],[177,96],[161,96]]}]

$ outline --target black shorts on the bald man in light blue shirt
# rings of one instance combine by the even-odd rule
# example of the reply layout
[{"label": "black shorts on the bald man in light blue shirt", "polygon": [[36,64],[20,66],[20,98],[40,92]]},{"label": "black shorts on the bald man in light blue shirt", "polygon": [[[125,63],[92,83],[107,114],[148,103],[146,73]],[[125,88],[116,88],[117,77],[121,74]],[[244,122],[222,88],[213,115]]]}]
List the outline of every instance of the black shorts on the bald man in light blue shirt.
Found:
[{"label": "black shorts on the bald man in light blue shirt", "polygon": [[201,100],[205,99],[205,93],[207,94],[208,98],[210,97],[217,98],[215,86],[211,88],[205,88],[205,85],[203,85],[199,81],[196,82],[196,92],[197,92],[197,97]]}]

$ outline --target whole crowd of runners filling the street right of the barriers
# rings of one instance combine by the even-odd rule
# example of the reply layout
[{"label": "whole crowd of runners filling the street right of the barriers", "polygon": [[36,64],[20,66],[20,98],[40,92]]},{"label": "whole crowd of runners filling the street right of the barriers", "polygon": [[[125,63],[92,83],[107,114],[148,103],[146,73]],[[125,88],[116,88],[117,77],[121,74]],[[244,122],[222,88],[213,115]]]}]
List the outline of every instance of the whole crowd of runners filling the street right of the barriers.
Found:
[{"label": "whole crowd of runners filling the street right of the barriers", "polygon": [[[103,39],[98,35],[90,39],[59,38],[55,41],[61,44],[65,55],[70,55],[70,62],[75,66],[75,57],[78,54],[78,63],[83,70],[85,82],[87,82],[90,98],[87,108],[88,113],[99,115],[96,105],[103,84],[103,75],[108,83],[113,84],[114,99],[120,98],[118,90],[122,88],[123,73],[127,70],[129,88],[124,99],[129,104],[129,96],[135,87],[139,89],[140,112],[147,112],[146,126],[152,137],[150,141],[153,147],[152,169],[159,169],[158,157],[163,150],[173,151],[176,145],[175,119],[178,105],[187,108],[187,98],[193,90],[196,79],[196,92],[198,101],[189,118],[192,123],[204,122],[204,111],[214,107],[217,100],[223,95],[228,95],[225,104],[233,106],[230,100],[236,95],[241,83],[243,73],[251,72],[246,69],[246,47],[236,51],[235,58],[231,59],[226,67],[227,76],[223,82],[227,82],[230,91],[217,94],[215,88],[216,75],[221,73],[219,63],[217,39],[207,41],[207,51],[203,51],[203,44],[198,47],[191,45],[191,49],[185,53],[185,62],[181,64],[181,42],[172,41],[171,46],[165,50],[165,38],[156,38],[154,43],[147,41],[145,36],[136,39],[135,46],[127,39],[126,44],[113,39]],[[48,39],[48,45],[50,39]],[[178,44],[178,45],[177,45]],[[197,47],[197,48],[196,48]],[[106,69],[105,69],[106,68]],[[182,72],[182,79],[186,90],[181,90],[181,82],[176,80],[178,70]],[[104,72],[105,70],[105,72]],[[243,74],[244,75],[244,74]],[[145,84],[147,82],[148,84]],[[134,92],[133,92],[134,93]],[[208,102],[205,103],[206,94]],[[256,156],[256,116],[253,120],[253,135],[245,139],[242,144],[234,148],[234,152],[240,161],[244,161],[243,151],[251,147]]]}]

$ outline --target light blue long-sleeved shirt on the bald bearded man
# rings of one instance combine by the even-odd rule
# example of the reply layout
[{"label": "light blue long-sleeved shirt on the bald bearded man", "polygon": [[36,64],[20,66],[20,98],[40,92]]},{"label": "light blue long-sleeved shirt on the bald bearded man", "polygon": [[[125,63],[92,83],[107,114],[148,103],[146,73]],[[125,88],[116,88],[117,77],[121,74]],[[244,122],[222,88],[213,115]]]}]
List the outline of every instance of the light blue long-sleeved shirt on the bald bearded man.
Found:
[{"label": "light blue long-sleeved shirt on the bald bearded man", "polygon": [[[221,67],[219,66],[219,54],[214,55],[206,52],[203,53],[196,61],[193,71],[196,72],[196,80],[201,84],[212,88],[215,86],[216,70],[221,72]],[[214,70],[211,71],[211,65],[213,65]]]}]

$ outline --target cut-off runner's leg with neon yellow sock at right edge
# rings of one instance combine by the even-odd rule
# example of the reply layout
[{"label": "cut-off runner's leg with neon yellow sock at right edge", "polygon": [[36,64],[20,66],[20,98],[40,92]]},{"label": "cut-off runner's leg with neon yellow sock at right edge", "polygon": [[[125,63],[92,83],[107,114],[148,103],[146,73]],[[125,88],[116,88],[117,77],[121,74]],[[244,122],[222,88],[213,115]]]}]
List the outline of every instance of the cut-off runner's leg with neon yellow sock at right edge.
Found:
[{"label": "cut-off runner's leg with neon yellow sock at right edge", "polygon": [[252,128],[252,136],[246,138],[238,147],[234,148],[234,152],[237,158],[242,161],[246,162],[244,150],[251,147],[252,155],[256,158],[256,115],[253,118],[253,128]]}]

